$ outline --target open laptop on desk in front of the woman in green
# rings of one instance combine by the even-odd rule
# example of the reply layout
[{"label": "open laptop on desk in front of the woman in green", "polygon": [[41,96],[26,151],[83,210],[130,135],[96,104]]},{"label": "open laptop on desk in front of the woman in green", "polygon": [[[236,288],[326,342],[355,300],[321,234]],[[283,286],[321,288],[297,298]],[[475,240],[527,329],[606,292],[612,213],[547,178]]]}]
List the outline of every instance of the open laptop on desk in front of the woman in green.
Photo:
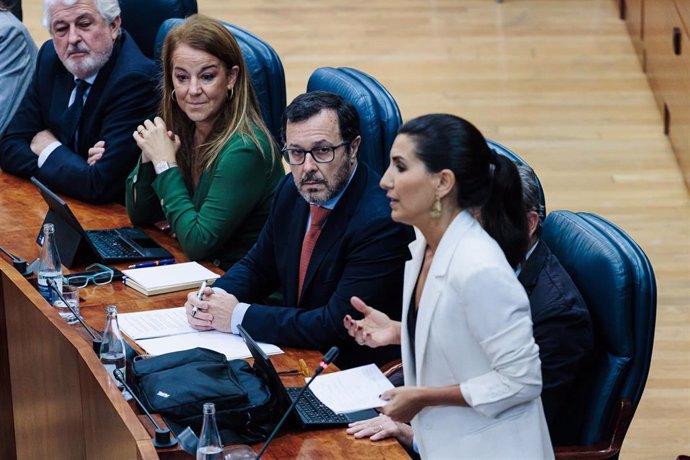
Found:
[{"label": "open laptop on desk in front of the woman in green", "polygon": [[[140,228],[84,230],[62,198],[35,177],[31,178],[31,182],[38,187],[41,196],[48,203],[49,209],[43,223],[55,225],[55,240],[60,260],[66,267],[91,262],[108,264],[173,258],[170,252]],[[36,242],[43,245],[42,231],[39,231]]]}]

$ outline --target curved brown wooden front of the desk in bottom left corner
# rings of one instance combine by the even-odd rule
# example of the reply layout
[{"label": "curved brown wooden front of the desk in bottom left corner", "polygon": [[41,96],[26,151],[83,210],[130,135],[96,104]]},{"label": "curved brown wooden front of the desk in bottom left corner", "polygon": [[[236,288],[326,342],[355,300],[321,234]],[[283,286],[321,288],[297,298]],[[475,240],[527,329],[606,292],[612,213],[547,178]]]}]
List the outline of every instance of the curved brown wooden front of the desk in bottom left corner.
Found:
[{"label": "curved brown wooden front of the desk in bottom left corner", "polygon": [[17,458],[157,458],[78,326],[9,265],[0,271]]}]

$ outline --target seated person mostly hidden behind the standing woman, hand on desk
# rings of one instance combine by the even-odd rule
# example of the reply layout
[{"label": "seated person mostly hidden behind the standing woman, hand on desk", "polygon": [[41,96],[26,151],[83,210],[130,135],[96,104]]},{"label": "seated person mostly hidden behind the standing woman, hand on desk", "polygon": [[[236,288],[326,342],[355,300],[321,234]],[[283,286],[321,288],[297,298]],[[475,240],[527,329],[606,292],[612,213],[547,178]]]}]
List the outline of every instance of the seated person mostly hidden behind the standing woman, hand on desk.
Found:
[{"label": "seated person mostly hidden behind the standing woman, hand on desk", "polygon": [[[543,388],[541,393],[552,441],[562,438],[562,407],[594,347],[589,311],[570,275],[540,239],[545,210],[539,200],[539,185],[532,168],[519,165],[522,205],[527,216],[529,251],[518,265],[518,280],[530,300],[534,339],[539,345]],[[412,427],[394,422],[385,415],[355,422],[348,433],[372,441],[397,438],[412,447]],[[556,444],[555,444],[556,445]]]}]

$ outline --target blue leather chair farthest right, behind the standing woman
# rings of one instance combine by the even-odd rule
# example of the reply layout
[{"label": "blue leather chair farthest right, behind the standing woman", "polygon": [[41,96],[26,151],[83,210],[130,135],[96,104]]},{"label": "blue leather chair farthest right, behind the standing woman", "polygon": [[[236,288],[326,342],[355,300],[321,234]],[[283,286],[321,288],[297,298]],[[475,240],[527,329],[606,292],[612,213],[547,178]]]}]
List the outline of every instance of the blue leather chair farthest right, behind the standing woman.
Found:
[{"label": "blue leather chair farthest right, behind the standing woman", "polygon": [[623,230],[594,214],[554,211],[542,238],[582,293],[595,354],[552,441],[558,458],[617,458],[642,396],[656,319],[654,271]]}]

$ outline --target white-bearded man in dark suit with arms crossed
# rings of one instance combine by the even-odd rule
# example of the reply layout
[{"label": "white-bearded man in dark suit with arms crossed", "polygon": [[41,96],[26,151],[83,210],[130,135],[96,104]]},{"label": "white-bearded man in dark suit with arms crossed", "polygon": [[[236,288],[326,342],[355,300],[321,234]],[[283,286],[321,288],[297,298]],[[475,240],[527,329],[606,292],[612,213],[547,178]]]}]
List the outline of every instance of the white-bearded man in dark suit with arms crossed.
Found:
[{"label": "white-bearded man in dark suit with arms crossed", "polygon": [[52,40],[0,140],[0,167],[89,203],[124,202],[132,131],[158,101],[156,65],[121,30],[117,0],[45,0],[43,23]]}]

